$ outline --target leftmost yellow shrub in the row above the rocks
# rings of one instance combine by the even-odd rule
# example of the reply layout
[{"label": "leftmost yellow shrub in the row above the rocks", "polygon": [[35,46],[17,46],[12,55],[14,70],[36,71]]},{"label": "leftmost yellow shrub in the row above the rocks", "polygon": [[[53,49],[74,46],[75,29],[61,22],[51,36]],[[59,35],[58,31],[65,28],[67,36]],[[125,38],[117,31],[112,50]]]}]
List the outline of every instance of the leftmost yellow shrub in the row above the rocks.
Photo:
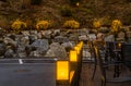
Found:
[{"label": "leftmost yellow shrub in the row above the rocks", "polygon": [[27,25],[26,25],[26,23],[24,23],[24,22],[22,22],[22,21],[20,21],[20,20],[16,20],[16,21],[14,21],[14,22],[12,23],[11,27],[12,27],[13,30],[20,32],[20,30],[26,28]]}]

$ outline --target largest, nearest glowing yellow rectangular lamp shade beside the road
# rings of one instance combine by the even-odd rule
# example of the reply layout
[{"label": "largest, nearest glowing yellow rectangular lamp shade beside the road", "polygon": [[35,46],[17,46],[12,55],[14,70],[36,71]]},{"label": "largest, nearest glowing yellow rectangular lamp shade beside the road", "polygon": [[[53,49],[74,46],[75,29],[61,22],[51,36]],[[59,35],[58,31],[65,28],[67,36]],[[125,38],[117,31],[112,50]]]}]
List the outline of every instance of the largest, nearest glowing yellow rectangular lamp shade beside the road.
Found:
[{"label": "largest, nearest glowing yellow rectangular lamp shade beside the road", "polygon": [[68,79],[69,79],[69,62],[57,61],[57,81],[68,81]]}]

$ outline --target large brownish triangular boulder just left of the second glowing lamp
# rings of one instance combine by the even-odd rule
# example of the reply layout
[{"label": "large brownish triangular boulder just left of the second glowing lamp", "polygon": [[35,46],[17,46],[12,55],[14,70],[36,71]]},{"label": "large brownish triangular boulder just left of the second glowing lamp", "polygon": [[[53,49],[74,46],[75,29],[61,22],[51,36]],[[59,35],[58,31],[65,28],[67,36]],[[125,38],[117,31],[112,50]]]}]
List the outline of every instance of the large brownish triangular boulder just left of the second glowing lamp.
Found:
[{"label": "large brownish triangular boulder just left of the second glowing lamp", "polygon": [[52,42],[45,57],[57,57],[58,59],[66,59],[68,58],[68,53],[64,47],[60,46],[58,42]]}]

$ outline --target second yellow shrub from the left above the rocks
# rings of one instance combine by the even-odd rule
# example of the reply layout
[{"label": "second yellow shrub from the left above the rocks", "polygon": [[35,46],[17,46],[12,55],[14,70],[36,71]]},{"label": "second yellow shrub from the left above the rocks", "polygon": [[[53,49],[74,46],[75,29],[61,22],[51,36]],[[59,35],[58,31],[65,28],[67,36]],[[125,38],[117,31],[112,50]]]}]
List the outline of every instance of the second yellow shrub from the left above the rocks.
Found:
[{"label": "second yellow shrub from the left above the rocks", "polygon": [[51,26],[51,24],[48,21],[39,21],[36,24],[36,28],[39,29],[47,29]]}]

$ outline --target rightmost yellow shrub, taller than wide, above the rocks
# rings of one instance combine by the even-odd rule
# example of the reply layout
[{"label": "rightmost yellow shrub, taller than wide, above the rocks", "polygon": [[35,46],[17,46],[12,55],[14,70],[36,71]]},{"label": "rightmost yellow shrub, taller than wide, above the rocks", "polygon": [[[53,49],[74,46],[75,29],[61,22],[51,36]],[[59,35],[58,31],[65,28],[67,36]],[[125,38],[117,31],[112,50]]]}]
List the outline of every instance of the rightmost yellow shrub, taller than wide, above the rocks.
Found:
[{"label": "rightmost yellow shrub, taller than wide, above the rocks", "polygon": [[114,20],[111,23],[112,33],[118,33],[121,29],[122,23],[119,20]]}]

